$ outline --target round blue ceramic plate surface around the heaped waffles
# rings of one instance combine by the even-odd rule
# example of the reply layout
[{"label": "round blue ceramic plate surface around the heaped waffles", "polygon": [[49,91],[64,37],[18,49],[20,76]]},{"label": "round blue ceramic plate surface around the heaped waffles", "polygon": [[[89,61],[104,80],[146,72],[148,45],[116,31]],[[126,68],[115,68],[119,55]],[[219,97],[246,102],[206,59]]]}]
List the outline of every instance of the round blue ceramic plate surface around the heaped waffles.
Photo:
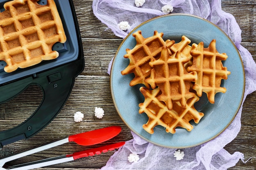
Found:
[{"label": "round blue ceramic plate surface around the heaped waffles", "polygon": [[[144,102],[144,96],[139,92],[141,85],[130,87],[129,83],[134,77],[133,74],[121,75],[128,64],[129,59],[124,58],[126,49],[132,49],[136,45],[136,40],[132,33],[141,30],[144,38],[153,36],[153,32],[163,32],[163,39],[180,42],[184,35],[192,43],[204,42],[205,47],[209,46],[211,40],[216,39],[216,48],[219,53],[227,53],[228,58],[223,61],[231,74],[227,80],[222,81],[222,87],[227,88],[225,94],[217,93],[215,103],[209,103],[204,94],[195,103],[199,112],[204,113],[204,117],[198,124],[193,121],[193,130],[188,132],[183,128],[176,128],[176,133],[166,133],[162,126],[154,128],[154,134],[148,134],[142,125],[148,121],[145,113],[139,114],[139,103]],[[159,16],[144,22],[135,28],[121,43],[115,55],[111,74],[110,86],[112,98],[124,123],[141,138],[148,142],[168,148],[188,148],[205,143],[224,131],[236,116],[242,103],[245,89],[245,72],[241,57],[234,43],[229,37],[211,22],[186,14],[171,14]]]}]

